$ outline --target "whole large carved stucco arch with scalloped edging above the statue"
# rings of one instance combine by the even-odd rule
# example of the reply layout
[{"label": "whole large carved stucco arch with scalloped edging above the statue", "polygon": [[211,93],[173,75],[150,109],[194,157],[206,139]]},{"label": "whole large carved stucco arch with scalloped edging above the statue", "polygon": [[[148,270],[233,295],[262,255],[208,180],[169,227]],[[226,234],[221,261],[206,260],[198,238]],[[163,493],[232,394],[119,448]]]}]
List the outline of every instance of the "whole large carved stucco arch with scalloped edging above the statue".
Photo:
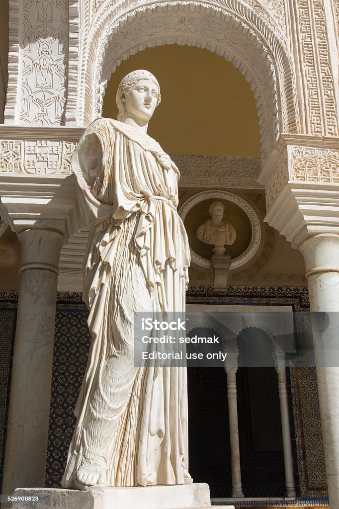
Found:
[{"label": "whole large carved stucco arch with scalloped edging above the statue", "polygon": [[78,124],[88,125],[101,115],[107,81],[130,54],[173,43],[205,47],[231,61],[250,83],[265,160],[280,132],[298,132],[299,119],[286,35],[263,5],[254,4],[261,17],[242,0],[97,3],[84,31],[87,48],[82,49],[77,100],[69,101],[67,119],[75,117],[75,104]]}]

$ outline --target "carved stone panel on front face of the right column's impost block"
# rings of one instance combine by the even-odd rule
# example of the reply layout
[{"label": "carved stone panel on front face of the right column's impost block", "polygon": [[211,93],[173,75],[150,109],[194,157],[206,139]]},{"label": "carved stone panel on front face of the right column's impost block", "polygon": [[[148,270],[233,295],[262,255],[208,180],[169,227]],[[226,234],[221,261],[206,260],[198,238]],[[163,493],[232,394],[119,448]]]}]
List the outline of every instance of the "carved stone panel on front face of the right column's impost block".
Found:
[{"label": "carved stone panel on front face of the right column's impost block", "polygon": [[292,147],[292,179],[339,184],[339,151]]}]

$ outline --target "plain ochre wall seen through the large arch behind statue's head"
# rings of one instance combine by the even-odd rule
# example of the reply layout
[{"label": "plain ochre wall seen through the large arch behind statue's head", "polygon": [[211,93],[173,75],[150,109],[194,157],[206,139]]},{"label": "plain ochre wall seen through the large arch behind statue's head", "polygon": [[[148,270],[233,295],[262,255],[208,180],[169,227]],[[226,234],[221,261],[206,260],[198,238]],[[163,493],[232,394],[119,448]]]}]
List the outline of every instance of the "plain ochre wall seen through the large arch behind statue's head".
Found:
[{"label": "plain ochre wall seen through the large arch behind statue's head", "polygon": [[146,69],[158,79],[161,103],[148,133],[171,154],[260,156],[257,106],[245,77],[221,56],[192,46],[139,51],[112,74],[103,116],[116,118],[121,79]]}]

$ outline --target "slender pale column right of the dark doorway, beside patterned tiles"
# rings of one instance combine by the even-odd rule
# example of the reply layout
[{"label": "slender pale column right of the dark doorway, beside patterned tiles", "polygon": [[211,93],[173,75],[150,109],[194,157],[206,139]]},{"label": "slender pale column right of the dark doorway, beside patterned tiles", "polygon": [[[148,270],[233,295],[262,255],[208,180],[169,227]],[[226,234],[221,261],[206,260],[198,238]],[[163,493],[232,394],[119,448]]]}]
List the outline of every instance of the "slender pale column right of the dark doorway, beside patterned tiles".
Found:
[{"label": "slender pale column right of the dark doorway, beside patterned tiles", "polygon": [[287,497],[296,497],[297,494],[295,491],[294,475],[293,475],[293,456],[292,456],[292,443],[291,443],[291,432],[290,432],[289,406],[288,406],[288,400],[287,400],[285,353],[283,353],[283,352],[276,353],[275,358],[276,358],[275,370],[278,375],[281,431],[283,434],[286,496]]}]

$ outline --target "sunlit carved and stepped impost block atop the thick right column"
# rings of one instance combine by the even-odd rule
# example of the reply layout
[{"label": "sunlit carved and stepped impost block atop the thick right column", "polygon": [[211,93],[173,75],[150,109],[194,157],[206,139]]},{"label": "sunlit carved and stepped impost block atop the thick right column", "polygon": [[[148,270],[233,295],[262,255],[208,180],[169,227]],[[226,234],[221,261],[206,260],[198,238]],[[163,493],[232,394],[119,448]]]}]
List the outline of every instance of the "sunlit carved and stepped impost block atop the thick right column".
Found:
[{"label": "sunlit carved and stepped impost block atop the thick right column", "polygon": [[292,247],[318,234],[339,234],[339,138],[280,135],[259,181],[265,221]]}]

